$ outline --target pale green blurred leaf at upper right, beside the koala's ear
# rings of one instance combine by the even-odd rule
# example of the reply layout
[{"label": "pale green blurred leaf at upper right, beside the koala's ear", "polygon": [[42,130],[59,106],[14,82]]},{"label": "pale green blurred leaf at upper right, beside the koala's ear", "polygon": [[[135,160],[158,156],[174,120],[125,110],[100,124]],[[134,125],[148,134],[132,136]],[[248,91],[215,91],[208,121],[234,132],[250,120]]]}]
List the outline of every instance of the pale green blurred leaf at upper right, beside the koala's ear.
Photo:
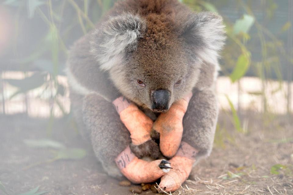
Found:
[{"label": "pale green blurred leaf at upper right, beside the koala's ear", "polygon": [[244,14],[242,19],[237,19],[233,26],[233,34],[237,35],[241,32],[248,33],[252,25],[254,24],[255,18],[253,16]]}]

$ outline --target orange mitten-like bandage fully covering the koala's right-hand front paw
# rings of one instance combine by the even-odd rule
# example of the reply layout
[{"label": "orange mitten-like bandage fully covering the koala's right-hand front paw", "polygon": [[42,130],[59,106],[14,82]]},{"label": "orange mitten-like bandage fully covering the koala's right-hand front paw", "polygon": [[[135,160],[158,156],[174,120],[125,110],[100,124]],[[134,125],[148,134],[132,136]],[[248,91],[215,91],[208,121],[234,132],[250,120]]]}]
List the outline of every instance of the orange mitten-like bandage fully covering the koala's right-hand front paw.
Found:
[{"label": "orange mitten-like bandage fully covering the koala's right-hand front paw", "polygon": [[164,156],[176,154],[183,133],[183,116],[187,110],[192,93],[172,104],[170,109],[161,113],[154,122],[153,129],[160,133],[160,150]]}]

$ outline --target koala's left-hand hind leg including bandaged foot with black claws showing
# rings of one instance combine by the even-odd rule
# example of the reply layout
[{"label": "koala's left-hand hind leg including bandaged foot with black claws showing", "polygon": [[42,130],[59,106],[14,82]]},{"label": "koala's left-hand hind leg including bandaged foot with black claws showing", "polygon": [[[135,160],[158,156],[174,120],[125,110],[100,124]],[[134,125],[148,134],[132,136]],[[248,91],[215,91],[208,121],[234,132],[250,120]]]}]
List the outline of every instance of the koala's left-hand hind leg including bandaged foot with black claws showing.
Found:
[{"label": "koala's left-hand hind leg including bandaged foot with black claws showing", "polygon": [[83,119],[91,131],[92,147],[104,170],[116,178],[122,173],[133,183],[147,183],[169,172],[170,162],[143,161],[130,150],[130,134],[121,122],[112,102],[96,94],[83,101]]}]

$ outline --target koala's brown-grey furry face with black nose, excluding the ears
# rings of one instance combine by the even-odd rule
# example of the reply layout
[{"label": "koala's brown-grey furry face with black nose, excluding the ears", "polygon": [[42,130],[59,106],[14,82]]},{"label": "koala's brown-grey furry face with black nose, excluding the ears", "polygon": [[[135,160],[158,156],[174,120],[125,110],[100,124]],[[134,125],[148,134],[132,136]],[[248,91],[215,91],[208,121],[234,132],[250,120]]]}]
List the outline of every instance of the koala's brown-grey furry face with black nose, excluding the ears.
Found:
[{"label": "koala's brown-grey furry face with black nose, excluding the ears", "polygon": [[[110,70],[121,93],[154,112],[166,112],[172,103],[192,90],[198,79],[198,66],[189,59],[180,40],[168,37],[164,47],[154,47],[148,36],[141,38],[136,51],[121,67]],[[165,45],[167,43],[167,46]]]}]

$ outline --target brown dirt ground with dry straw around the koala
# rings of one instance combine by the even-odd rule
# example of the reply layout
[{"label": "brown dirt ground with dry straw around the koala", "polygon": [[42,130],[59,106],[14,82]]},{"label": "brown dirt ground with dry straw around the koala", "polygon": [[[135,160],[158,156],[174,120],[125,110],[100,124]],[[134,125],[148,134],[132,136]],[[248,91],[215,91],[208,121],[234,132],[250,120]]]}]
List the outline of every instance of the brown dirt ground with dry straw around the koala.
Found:
[{"label": "brown dirt ground with dry straw around the koala", "polygon": [[[243,114],[244,133],[222,112],[209,158],[200,161],[183,188],[172,194],[293,194],[293,118]],[[56,160],[52,148],[29,147],[26,139],[50,138],[84,148],[81,160]],[[274,173],[274,174],[273,174]],[[46,195],[128,195],[108,177],[88,143],[68,119],[52,122],[25,115],[0,116],[0,181],[11,195],[37,186]],[[5,193],[1,191],[0,194]],[[154,194],[150,190],[141,194]]]}]

